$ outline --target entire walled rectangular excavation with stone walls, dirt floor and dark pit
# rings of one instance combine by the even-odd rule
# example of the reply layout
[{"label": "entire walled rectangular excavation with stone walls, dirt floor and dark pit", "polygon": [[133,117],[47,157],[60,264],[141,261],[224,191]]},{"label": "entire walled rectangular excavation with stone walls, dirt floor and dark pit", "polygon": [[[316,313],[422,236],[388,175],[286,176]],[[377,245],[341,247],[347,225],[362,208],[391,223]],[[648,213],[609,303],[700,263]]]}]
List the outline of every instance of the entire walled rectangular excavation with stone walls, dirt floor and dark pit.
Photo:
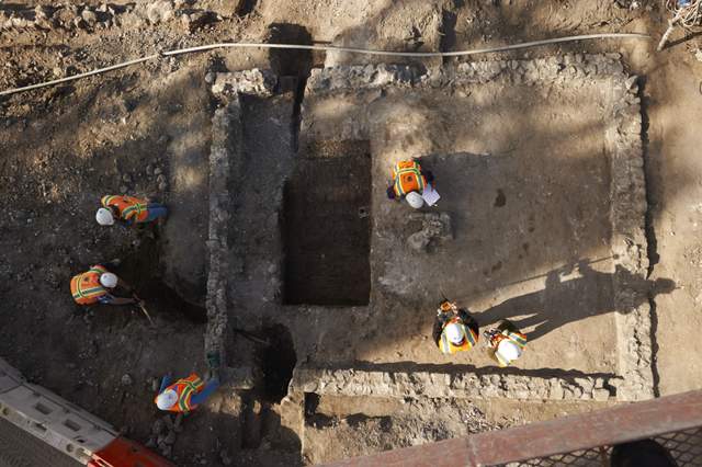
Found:
[{"label": "entire walled rectangular excavation with stone walls, dirt floor and dark pit", "polygon": [[[215,117],[208,289],[225,319],[206,345],[227,327],[275,337],[252,351],[253,392],[281,426],[335,429],[320,397],[648,397],[639,109],[618,57],[313,69],[298,139],[299,93],[276,94],[269,78],[233,72],[213,87],[236,94]],[[438,207],[387,200],[387,174],[408,157],[433,171]],[[409,241],[437,219],[446,228],[431,248]],[[430,339],[440,294],[483,327],[518,322],[529,352],[507,369],[479,350],[442,355]],[[268,417],[253,412],[252,426]],[[381,411],[339,413],[388,430]]]}]

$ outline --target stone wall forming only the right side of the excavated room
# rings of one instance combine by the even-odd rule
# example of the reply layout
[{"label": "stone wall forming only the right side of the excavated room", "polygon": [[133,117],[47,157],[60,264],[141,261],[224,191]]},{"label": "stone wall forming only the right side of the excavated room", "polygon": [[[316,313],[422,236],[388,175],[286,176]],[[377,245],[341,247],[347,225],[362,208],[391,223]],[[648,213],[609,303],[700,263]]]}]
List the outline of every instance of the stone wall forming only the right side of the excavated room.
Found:
[{"label": "stone wall forming only the right side of the excavated room", "polygon": [[612,253],[619,255],[614,273],[614,307],[619,349],[620,400],[644,400],[655,396],[653,375],[652,308],[647,291],[629,284],[645,280],[648,270],[645,234],[646,181],[642,151],[642,116],[636,77],[613,88],[618,99],[608,130],[612,162],[610,193]]}]

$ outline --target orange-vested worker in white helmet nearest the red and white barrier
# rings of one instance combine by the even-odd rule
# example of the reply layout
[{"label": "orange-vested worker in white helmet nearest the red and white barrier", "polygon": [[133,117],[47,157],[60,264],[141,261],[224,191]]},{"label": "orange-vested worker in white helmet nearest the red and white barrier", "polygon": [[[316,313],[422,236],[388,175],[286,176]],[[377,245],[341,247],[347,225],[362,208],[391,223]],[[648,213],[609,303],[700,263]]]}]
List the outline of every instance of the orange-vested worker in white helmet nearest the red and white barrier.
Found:
[{"label": "orange-vested worker in white helmet nearest the red and white barrier", "polygon": [[154,402],[160,410],[170,412],[190,412],[203,403],[219,387],[219,379],[210,379],[206,384],[192,373],[169,386],[171,377],[163,376],[161,388]]}]

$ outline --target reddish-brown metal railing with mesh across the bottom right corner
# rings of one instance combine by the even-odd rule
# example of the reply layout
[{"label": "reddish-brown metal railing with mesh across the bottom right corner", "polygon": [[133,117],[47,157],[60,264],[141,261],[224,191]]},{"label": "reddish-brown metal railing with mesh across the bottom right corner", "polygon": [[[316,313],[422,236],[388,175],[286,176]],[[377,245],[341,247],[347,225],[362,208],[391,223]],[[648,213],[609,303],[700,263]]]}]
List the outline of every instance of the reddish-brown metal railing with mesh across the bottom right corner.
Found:
[{"label": "reddish-brown metal railing with mesh across the bottom right corner", "polygon": [[702,466],[702,390],[331,465],[609,466],[612,446],[648,438],[679,466]]}]

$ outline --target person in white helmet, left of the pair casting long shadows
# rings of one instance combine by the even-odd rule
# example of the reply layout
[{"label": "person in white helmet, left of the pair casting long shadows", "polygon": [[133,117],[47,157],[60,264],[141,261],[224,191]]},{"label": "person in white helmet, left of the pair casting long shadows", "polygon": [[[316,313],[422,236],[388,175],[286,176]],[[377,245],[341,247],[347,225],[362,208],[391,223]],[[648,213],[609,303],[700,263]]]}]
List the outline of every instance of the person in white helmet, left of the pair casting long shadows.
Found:
[{"label": "person in white helmet, left of the pair casting long shadows", "polygon": [[444,354],[473,349],[478,342],[478,323],[466,309],[443,300],[437,310],[432,337]]}]

